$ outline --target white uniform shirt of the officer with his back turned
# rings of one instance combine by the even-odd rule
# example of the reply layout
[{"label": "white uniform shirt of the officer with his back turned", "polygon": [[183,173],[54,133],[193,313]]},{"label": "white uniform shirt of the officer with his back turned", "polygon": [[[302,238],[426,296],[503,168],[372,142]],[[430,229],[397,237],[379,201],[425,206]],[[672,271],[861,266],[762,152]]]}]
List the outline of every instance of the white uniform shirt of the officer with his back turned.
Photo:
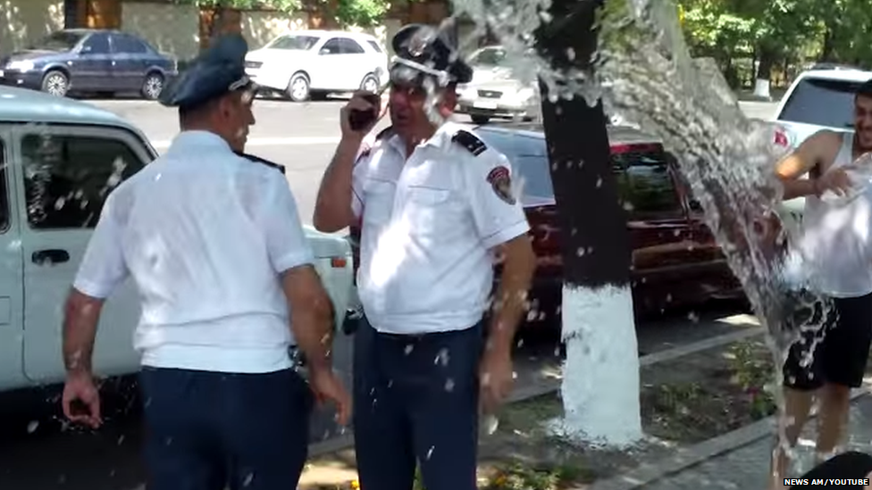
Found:
[{"label": "white uniform shirt of the officer with his back turned", "polygon": [[272,372],[293,344],[279,274],[312,262],[281,171],[186,131],[108,196],[73,286],[104,298],[134,279],[144,365]]}]

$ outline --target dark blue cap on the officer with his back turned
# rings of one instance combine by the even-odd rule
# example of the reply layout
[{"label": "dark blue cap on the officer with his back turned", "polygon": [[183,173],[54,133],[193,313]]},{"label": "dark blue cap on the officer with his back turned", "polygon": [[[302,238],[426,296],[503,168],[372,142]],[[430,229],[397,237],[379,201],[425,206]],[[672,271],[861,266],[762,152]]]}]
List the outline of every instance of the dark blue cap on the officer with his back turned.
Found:
[{"label": "dark blue cap on the officer with his back turned", "polygon": [[237,90],[254,90],[245,71],[248,44],[237,33],[215,38],[161,94],[160,103],[190,109]]}]

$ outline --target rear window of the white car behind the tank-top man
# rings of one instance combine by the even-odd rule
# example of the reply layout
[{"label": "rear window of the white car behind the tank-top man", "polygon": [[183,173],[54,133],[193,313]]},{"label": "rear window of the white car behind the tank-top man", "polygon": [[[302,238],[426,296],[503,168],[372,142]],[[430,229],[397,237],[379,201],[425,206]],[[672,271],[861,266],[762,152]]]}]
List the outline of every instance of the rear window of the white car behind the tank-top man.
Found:
[{"label": "rear window of the white car behind the tank-top man", "polygon": [[829,128],[853,128],[854,94],[859,82],[802,79],[793,89],[778,120]]}]

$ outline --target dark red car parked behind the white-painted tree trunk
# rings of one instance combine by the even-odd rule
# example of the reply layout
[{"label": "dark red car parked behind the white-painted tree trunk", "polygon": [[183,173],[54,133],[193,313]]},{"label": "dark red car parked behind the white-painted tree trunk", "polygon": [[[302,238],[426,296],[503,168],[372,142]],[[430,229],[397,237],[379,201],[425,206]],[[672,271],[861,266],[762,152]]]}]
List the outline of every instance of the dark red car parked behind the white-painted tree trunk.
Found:
[{"label": "dark red car parked behind the white-painted tree trunk", "polygon": [[[555,320],[563,286],[561,230],[541,124],[489,124],[475,132],[487,145],[506,154],[516,179],[523,179],[520,201],[539,259],[528,320]],[[637,312],[742,298],[738,279],[702,219],[699,205],[679,178],[675,158],[656,137],[637,129],[610,127],[608,138],[620,198],[627,210]],[[359,230],[351,228],[353,245],[358,237]]]}]

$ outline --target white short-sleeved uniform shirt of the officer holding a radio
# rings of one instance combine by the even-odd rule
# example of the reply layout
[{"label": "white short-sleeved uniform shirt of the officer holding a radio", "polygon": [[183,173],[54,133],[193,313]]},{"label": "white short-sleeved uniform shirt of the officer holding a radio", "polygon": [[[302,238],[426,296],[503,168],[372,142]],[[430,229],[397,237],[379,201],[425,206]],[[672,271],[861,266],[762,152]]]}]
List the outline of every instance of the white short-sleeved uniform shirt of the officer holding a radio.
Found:
[{"label": "white short-sleeved uniform shirt of the officer holding a radio", "polygon": [[379,331],[474,326],[489,303],[493,248],[530,229],[511,191],[500,195],[505,155],[460,130],[444,124],[408,159],[400,137],[383,137],[357,159],[357,290]]}]

